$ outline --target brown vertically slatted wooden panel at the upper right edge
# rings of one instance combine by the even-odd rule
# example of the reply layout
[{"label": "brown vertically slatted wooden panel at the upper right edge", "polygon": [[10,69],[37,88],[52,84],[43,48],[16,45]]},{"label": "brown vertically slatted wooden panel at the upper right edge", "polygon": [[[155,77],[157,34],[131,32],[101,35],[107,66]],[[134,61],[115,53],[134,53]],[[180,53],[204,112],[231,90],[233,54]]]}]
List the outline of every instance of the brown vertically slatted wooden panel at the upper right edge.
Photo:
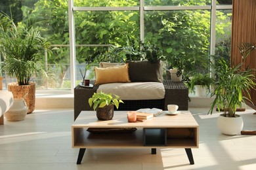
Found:
[{"label": "brown vertically slatted wooden panel at the upper right edge", "polygon": [[[231,41],[231,63],[237,65],[242,61],[238,48],[240,42],[256,45],[256,0],[233,0]],[[256,69],[256,50],[245,60],[245,67],[247,65],[251,69]],[[256,90],[251,90],[251,98],[254,106],[250,106],[255,109]]]}]

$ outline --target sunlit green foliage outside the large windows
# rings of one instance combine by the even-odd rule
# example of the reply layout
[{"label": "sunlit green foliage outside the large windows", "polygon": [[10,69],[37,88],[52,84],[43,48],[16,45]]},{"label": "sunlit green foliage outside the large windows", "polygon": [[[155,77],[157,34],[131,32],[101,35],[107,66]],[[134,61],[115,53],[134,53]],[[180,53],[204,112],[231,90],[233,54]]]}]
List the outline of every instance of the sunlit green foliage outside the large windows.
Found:
[{"label": "sunlit green foliage outside the large windows", "polygon": [[[40,29],[44,37],[51,38],[51,44],[69,44],[68,31],[68,0],[44,1],[26,0],[35,3],[34,6],[22,5],[23,21],[29,18],[43,20]],[[209,0],[194,1],[151,1],[146,0],[148,6],[165,5],[209,5]],[[224,2],[221,2],[224,3]],[[94,0],[74,1],[75,7],[138,7],[137,0]],[[26,6],[25,6],[26,5]],[[229,14],[231,12],[229,11]],[[221,10],[217,11],[217,37],[220,55],[229,55],[223,44],[230,45],[230,36],[221,39],[223,35],[230,35],[230,15]],[[210,39],[210,11],[209,10],[174,10],[147,11],[144,16],[144,42],[156,44],[171,63],[173,58],[183,59],[187,70],[205,71],[209,61]],[[117,47],[129,46],[127,39],[140,42],[139,11],[75,11],[75,40],[76,44],[112,44]],[[46,31],[47,30],[47,31]],[[218,49],[218,48],[217,48]],[[97,53],[109,50],[106,47],[77,47],[78,63],[85,63],[85,59]],[[60,66],[60,79],[63,80],[69,67],[69,51],[65,47],[56,47],[48,63]],[[98,62],[96,58],[91,58]],[[203,61],[205,60],[205,62]],[[203,65],[205,63],[205,65]]]}]

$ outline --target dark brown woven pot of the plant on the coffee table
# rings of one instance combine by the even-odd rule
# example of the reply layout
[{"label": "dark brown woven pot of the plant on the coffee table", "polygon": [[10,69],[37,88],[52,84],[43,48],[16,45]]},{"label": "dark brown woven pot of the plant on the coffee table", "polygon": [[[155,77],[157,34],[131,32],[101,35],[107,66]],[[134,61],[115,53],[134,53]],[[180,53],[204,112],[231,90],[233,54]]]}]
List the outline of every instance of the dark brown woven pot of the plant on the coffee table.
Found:
[{"label": "dark brown woven pot of the plant on the coffee table", "polygon": [[96,109],[98,120],[111,120],[114,116],[114,105],[106,105]]}]

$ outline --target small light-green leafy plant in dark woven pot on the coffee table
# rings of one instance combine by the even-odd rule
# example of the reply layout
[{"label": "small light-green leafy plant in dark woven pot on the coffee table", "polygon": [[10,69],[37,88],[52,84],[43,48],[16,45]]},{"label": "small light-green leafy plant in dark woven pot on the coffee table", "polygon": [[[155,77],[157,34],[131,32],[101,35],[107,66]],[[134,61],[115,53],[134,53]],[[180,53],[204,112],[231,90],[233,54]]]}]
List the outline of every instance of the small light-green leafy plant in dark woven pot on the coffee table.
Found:
[{"label": "small light-green leafy plant in dark woven pot on the coffee table", "polygon": [[90,107],[93,106],[93,110],[96,110],[98,120],[111,120],[113,118],[114,105],[118,109],[119,103],[123,103],[118,95],[114,96],[112,97],[111,93],[98,92],[89,98],[88,103]]}]

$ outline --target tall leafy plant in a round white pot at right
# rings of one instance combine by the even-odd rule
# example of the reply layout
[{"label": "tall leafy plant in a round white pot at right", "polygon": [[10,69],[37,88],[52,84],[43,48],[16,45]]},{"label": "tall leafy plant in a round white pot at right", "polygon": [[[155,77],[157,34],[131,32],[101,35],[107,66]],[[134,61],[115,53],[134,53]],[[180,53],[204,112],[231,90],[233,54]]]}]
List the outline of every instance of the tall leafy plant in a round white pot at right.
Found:
[{"label": "tall leafy plant in a round white pot at right", "polygon": [[243,62],[236,67],[229,67],[225,59],[220,58],[216,65],[217,81],[211,95],[215,95],[215,99],[209,112],[212,114],[215,106],[218,110],[222,109],[223,114],[217,120],[221,133],[236,135],[244,126],[242,117],[236,114],[236,109],[241,108],[245,100],[251,101],[249,90],[255,89],[255,75],[252,69],[242,69]]}]

